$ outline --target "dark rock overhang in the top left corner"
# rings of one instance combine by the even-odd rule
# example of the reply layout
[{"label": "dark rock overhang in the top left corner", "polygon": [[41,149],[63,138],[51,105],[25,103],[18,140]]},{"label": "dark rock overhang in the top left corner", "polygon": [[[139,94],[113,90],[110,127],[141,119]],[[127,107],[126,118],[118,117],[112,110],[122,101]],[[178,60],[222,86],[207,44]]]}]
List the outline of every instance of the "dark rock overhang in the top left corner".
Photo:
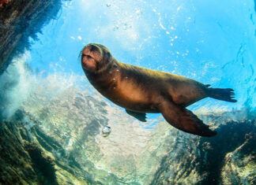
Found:
[{"label": "dark rock overhang in the top left corner", "polygon": [[0,6],[0,74],[17,54],[29,48],[28,39],[56,17],[62,0],[8,0]]}]

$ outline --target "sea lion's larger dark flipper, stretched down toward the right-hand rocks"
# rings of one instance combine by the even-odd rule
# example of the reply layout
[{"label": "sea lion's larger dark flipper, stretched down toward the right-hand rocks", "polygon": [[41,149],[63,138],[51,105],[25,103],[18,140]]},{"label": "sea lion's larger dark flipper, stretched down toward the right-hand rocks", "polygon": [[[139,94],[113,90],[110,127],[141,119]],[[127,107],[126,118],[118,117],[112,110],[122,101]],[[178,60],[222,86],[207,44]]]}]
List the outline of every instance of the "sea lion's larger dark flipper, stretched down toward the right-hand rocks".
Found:
[{"label": "sea lion's larger dark flipper, stretched down toward the right-hand rocks", "polygon": [[216,135],[216,131],[211,131],[209,126],[199,120],[194,113],[182,106],[175,105],[173,102],[162,102],[159,105],[159,110],[165,120],[179,130],[205,137]]}]

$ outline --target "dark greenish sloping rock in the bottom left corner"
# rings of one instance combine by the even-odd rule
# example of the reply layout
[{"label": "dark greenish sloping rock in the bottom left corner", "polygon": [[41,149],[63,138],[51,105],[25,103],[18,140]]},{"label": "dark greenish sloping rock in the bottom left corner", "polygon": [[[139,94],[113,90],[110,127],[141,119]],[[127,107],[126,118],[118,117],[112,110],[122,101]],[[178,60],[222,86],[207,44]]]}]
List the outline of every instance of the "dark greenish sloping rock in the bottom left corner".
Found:
[{"label": "dark greenish sloping rock in the bottom left corner", "polygon": [[[21,111],[16,116],[23,119]],[[56,159],[51,153],[64,155],[62,146],[31,121],[0,122],[0,184],[97,184],[79,165],[70,165],[72,156]]]}]

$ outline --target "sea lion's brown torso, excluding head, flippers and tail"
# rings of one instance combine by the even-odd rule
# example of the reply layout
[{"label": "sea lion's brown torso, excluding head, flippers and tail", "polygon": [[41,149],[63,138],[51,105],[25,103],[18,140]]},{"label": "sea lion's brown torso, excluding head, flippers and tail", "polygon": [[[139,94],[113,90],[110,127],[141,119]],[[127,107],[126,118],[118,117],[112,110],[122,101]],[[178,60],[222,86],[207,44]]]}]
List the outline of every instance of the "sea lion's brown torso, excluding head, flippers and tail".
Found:
[{"label": "sea lion's brown torso, excluding head, flippers and tail", "polygon": [[195,80],[114,61],[107,72],[86,76],[100,94],[125,109],[160,113],[155,107],[164,98],[177,105],[191,105],[206,97],[207,87]]}]

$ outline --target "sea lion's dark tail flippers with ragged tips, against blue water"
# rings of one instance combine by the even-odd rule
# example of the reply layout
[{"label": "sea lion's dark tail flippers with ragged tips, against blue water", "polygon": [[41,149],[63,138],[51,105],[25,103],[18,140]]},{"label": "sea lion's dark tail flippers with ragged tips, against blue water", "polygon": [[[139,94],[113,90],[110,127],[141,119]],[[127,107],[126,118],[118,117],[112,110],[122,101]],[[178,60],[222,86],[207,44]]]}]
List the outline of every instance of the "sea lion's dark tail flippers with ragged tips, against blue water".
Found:
[{"label": "sea lion's dark tail flippers with ragged tips, against blue water", "polygon": [[210,98],[215,98],[219,100],[223,100],[226,102],[237,102],[235,99],[235,92],[233,89],[221,89],[221,88],[207,88],[208,96]]}]

